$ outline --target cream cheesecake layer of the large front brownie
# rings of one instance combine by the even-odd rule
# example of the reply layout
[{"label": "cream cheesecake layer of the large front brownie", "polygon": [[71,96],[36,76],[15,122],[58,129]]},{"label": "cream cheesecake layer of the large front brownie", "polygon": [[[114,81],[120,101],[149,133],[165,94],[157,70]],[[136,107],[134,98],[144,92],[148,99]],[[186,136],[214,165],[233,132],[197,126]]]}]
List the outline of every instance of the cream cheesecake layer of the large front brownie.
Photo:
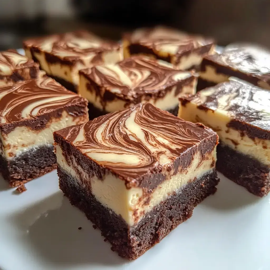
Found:
[{"label": "cream cheesecake layer of the large front brownie", "polygon": [[[65,158],[59,145],[55,146],[55,151],[60,169],[75,178],[78,185],[89,183],[89,189],[95,198],[115,214],[121,215],[130,226],[136,225],[145,214],[166,200],[173,192],[210,172],[214,166],[213,161],[216,160],[215,149],[206,154],[204,159],[198,152],[187,169],[162,182],[150,195],[145,195],[142,188],[127,189],[125,182],[112,174],[106,174],[103,180],[99,180],[96,176],[90,178],[73,156],[69,156],[68,160]],[[80,173],[77,174],[76,171]]]}]

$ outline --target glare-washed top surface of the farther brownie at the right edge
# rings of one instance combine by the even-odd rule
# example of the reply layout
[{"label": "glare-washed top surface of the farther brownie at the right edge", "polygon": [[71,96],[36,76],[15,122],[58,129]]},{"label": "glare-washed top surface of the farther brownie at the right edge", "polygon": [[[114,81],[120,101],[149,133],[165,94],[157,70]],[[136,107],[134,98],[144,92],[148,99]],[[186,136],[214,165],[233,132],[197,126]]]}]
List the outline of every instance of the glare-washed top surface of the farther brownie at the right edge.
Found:
[{"label": "glare-washed top surface of the farther brownie at the right edge", "polygon": [[205,59],[259,76],[261,80],[270,79],[270,52],[257,46],[229,45],[222,53],[205,56]]}]

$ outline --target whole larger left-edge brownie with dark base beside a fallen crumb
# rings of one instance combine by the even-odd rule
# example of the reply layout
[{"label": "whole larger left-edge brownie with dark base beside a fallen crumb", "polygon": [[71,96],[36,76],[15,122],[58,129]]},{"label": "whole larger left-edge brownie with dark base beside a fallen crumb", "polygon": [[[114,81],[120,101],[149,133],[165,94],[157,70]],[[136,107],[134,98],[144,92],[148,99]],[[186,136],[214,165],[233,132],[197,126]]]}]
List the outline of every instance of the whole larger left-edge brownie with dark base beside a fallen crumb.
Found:
[{"label": "whole larger left-edge brownie with dark base beside a fallen crumb", "polygon": [[53,131],[87,121],[87,100],[49,77],[0,87],[0,173],[15,187],[55,169]]}]

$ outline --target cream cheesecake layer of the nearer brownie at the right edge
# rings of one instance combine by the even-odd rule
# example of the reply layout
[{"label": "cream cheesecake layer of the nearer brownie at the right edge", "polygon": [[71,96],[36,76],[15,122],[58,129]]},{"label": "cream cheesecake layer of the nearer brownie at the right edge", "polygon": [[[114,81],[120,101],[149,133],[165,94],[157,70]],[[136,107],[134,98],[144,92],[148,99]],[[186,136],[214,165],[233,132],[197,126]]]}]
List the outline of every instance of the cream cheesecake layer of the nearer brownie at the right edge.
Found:
[{"label": "cream cheesecake layer of the nearer brownie at the right edge", "polygon": [[[226,98],[224,96],[224,100]],[[232,119],[226,111],[201,110],[196,103],[187,102],[184,106],[180,103],[178,117],[194,123],[203,123],[217,132],[222,143],[270,166],[270,141],[259,138],[251,139],[247,135],[241,134],[240,131],[227,127]]]}]

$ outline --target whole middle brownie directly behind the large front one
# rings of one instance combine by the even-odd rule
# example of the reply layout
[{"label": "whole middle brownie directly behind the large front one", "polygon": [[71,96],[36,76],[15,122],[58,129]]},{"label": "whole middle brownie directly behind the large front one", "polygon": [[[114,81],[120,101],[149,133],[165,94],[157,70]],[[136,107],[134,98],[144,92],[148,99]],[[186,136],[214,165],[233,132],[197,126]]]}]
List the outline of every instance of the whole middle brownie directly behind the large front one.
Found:
[{"label": "whole middle brownie directly behind the large front one", "polygon": [[170,63],[133,56],[114,65],[80,70],[79,93],[89,101],[89,117],[151,103],[178,113],[178,96],[194,94],[197,75]]}]

